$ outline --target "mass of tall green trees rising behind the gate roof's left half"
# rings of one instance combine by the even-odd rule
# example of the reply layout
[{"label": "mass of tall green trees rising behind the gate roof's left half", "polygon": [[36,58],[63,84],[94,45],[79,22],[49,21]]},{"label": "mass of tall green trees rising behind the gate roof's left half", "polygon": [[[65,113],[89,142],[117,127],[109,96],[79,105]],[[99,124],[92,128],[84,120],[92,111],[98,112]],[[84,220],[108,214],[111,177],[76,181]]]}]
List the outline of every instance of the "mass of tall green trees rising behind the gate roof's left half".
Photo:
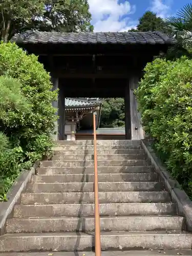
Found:
[{"label": "mass of tall green trees rising behind the gate roof's left half", "polygon": [[15,33],[93,30],[87,0],[2,0],[0,35],[7,42]]}]

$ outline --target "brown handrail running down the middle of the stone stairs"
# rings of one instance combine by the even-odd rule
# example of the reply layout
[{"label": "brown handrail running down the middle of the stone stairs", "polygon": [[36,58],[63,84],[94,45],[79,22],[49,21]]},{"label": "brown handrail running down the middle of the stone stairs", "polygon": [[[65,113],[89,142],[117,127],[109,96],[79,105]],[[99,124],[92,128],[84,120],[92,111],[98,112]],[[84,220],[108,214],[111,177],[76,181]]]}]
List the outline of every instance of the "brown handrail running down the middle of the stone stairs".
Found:
[{"label": "brown handrail running down the middle of the stone stairs", "polygon": [[99,214],[99,189],[98,189],[98,171],[97,171],[97,138],[96,138],[96,112],[93,113],[93,131],[94,131],[94,197],[95,197],[95,256],[101,256],[101,238],[100,238],[100,214]]}]

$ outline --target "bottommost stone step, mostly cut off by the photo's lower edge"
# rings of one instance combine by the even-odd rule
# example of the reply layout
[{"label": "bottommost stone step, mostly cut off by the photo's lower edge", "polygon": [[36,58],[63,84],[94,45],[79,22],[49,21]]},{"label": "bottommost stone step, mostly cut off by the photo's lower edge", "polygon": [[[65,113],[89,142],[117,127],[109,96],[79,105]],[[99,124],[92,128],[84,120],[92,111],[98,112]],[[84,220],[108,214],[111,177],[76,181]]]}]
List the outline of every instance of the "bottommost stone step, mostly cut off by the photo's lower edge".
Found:
[{"label": "bottommost stone step, mostly cut off by the photo's lower edge", "polygon": [[[46,252],[5,252],[2,256],[95,256],[94,251],[46,251]],[[129,250],[129,251],[101,251],[101,256],[188,256],[192,250]]]}]

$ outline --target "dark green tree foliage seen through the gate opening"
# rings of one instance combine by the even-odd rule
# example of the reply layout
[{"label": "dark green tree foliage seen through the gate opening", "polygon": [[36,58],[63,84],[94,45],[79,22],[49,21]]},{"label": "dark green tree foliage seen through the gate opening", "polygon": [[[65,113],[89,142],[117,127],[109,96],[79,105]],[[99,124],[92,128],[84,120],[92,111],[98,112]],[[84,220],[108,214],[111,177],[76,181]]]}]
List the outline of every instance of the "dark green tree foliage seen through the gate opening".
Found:
[{"label": "dark green tree foliage seen through the gate opening", "polygon": [[100,127],[124,126],[124,98],[105,98],[102,103]]}]

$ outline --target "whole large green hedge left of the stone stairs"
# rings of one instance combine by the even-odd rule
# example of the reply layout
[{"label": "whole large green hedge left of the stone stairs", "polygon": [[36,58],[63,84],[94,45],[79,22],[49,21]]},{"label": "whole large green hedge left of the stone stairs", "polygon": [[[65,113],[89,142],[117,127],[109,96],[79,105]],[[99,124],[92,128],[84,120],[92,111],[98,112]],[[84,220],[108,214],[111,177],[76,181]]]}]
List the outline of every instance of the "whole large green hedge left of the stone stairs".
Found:
[{"label": "whole large green hedge left of the stone stairs", "polygon": [[50,154],[57,92],[37,57],[10,42],[0,44],[0,74],[0,144],[7,145],[0,152],[3,195],[22,168]]}]

